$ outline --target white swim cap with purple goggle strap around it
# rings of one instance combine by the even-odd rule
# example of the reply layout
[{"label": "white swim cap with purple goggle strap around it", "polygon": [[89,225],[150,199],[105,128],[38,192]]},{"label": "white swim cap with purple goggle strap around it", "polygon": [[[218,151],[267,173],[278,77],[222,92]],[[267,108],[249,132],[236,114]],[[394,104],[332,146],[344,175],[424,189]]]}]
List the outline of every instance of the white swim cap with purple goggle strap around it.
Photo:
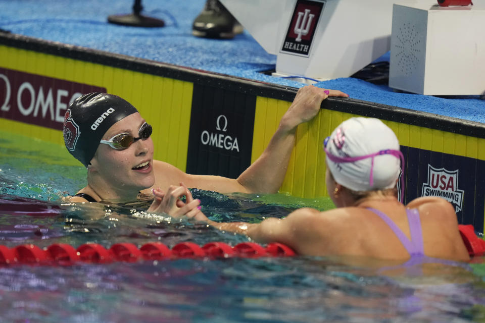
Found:
[{"label": "white swim cap with purple goggle strap around it", "polygon": [[393,188],[404,157],[391,128],[378,119],[351,118],[325,140],[334,180],[353,191]]}]

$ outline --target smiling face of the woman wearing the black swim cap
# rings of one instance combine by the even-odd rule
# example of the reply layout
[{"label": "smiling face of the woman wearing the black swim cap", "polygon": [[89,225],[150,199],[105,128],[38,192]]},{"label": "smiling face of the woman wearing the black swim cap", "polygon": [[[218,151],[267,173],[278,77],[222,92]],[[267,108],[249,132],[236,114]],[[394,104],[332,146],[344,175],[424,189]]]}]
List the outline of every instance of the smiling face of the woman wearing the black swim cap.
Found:
[{"label": "smiling face of the woman wearing the black swim cap", "polygon": [[[135,137],[137,134],[146,139],[133,140],[125,149],[113,149],[111,145],[100,144],[94,157],[91,159],[91,170],[96,177],[104,181],[113,190],[135,191],[152,187],[155,184],[153,172],[153,141],[150,137],[151,127],[144,126],[146,122],[139,113],[134,113],[116,122],[104,134],[103,139],[128,134]],[[150,134],[149,134],[150,132]]]}]

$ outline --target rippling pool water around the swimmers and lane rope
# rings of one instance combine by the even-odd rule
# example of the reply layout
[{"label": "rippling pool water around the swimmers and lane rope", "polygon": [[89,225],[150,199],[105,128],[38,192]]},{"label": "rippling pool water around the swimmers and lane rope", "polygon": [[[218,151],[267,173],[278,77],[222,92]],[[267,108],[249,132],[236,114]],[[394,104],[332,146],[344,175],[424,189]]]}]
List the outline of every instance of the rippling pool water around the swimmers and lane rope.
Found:
[{"label": "rippling pool water around the swimmers and lane rope", "polygon": [[[13,247],[248,241],[133,205],[66,204],[86,170],[60,145],[0,131],[0,240]],[[259,222],[327,198],[193,189],[217,221]],[[268,257],[0,267],[0,322],[465,322],[485,320],[485,265],[381,272],[373,259]]]}]

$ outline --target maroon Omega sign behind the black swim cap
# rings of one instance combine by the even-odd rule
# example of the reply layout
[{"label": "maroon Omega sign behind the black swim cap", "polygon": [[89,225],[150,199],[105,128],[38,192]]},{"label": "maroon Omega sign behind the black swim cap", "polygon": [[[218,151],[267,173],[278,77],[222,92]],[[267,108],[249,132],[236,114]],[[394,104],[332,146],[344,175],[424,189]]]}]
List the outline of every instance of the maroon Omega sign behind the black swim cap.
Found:
[{"label": "maroon Omega sign behind the black swim cap", "polygon": [[62,129],[69,104],[105,88],[0,68],[0,118]]}]

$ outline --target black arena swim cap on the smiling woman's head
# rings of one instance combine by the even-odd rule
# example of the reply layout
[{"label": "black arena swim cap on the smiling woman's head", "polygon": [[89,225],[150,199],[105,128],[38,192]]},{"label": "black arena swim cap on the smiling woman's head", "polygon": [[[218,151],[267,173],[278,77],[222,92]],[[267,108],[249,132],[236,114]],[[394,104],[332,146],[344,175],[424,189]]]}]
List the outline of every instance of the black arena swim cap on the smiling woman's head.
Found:
[{"label": "black arena swim cap on the smiling woman's head", "polygon": [[93,92],[78,97],[64,116],[66,148],[87,167],[106,131],[135,112],[133,105],[113,94]]}]

